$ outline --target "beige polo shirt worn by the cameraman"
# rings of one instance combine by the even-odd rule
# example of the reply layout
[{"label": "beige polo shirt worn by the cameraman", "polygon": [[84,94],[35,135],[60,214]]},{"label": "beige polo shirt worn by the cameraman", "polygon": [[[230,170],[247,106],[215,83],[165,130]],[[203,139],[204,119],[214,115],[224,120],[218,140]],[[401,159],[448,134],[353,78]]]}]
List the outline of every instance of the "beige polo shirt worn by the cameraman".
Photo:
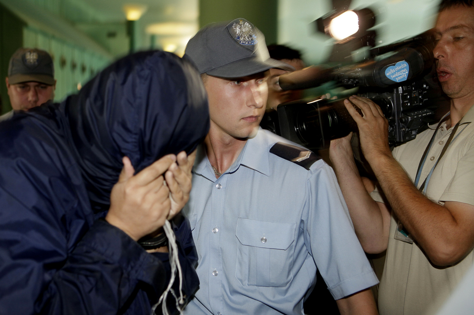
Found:
[{"label": "beige polo shirt worn by the cameraman", "polygon": [[[474,106],[461,120],[455,137],[428,181],[426,196],[440,205],[445,201],[474,205],[473,120]],[[431,126],[430,129],[417,135],[416,139],[393,150],[393,156],[413,182],[419,161],[436,126],[437,124]],[[447,130],[445,123],[438,129],[423,166],[419,185],[423,183],[438,160],[452,129],[453,127]],[[374,200],[383,202],[382,196],[377,191],[371,196]],[[435,267],[416,243],[410,244],[394,239],[396,220],[392,214],[387,256],[379,286],[380,314],[434,314],[473,264],[473,252],[451,267]]]}]

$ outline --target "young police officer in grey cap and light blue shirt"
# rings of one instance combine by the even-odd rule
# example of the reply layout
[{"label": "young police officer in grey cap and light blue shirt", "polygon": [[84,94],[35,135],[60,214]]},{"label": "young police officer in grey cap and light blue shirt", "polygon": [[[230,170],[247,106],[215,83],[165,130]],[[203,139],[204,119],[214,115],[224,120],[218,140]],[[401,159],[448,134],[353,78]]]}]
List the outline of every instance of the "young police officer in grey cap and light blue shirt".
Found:
[{"label": "young police officer in grey cap and light blue shirt", "polygon": [[202,28],[183,58],[201,73],[211,120],[183,209],[201,283],[186,314],[303,314],[317,268],[342,314],[375,314],[377,279],[333,171],[259,128],[269,69],[291,67],[243,18]]}]

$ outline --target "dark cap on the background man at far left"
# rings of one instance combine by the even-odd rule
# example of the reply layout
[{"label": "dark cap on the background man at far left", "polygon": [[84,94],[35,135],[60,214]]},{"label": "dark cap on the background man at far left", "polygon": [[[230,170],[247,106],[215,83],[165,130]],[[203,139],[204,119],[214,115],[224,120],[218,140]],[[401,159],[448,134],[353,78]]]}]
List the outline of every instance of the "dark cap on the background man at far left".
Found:
[{"label": "dark cap on the background man at far left", "polygon": [[44,50],[19,48],[10,58],[8,81],[10,84],[35,81],[54,85],[53,59]]}]

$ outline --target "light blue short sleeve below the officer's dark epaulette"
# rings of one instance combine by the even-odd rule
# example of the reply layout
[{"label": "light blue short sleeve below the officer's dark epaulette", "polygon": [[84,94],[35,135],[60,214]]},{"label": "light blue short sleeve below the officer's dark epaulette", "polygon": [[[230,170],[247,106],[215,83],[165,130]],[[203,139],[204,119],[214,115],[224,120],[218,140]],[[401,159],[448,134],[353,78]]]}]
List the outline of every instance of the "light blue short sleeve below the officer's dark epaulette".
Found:
[{"label": "light blue short sleeve below the officer's dark epaulette", "polygon": [[334,299],[377,284],[334,171],[324,164],[308,183],[310,253]]}]

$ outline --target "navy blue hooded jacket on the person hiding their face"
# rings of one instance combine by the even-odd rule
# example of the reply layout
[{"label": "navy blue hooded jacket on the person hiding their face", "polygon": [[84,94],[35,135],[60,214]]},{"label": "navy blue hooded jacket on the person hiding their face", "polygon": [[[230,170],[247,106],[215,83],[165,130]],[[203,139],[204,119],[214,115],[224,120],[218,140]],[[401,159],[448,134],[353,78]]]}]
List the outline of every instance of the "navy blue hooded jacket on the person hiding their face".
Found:
[{"label": "navy blue hooded jacket on the person hiding their face", "polygon": [[[127,56],[62,103],[2,121],[0,314],[149,314],[168,255],[100,218],[124,155],[138,172],[190,153],[208,129],[199,74],[164,52]],[[189,222],[173,229],[190,297],[199,280]]]}]

